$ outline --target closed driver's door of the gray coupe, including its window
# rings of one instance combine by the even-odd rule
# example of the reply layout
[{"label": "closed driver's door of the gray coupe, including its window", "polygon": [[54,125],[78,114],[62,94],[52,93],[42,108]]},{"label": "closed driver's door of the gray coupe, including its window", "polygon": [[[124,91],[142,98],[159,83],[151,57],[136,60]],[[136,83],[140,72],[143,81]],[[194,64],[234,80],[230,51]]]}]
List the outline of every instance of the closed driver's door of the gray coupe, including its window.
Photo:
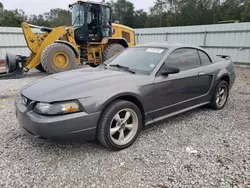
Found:
[{"label": "closed driver's door of the gray coupe, including its window", "polygon": [[[161,70],[167,67],[177,67],[180,72],[161,75]],[[206,84],[197,50],[180,48],[173,51],[155,77],[154,118],[202,103]]]}]

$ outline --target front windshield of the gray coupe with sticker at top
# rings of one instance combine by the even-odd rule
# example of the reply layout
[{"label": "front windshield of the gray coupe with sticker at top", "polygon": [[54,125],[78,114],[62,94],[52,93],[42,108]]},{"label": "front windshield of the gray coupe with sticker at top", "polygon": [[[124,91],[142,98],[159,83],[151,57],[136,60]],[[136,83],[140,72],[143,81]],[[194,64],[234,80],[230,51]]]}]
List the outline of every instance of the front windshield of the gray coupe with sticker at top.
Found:
[{"label": "front windshield of the gray coupe with sticker at top", "polygon": [[162,59],[164,48],[128,48],[105,62],[107,65],[120,65],[135,72],[150,74]]}]

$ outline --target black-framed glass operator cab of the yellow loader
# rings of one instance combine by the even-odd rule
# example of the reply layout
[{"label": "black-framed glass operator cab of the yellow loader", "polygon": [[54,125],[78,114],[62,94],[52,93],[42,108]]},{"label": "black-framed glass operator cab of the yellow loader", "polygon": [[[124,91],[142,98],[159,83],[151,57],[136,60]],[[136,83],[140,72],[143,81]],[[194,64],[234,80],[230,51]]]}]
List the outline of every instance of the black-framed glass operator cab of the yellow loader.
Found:
[{"label": "black-framed glass operator cab of the yellow loader", "polygon": [[112,36],[111,8],[103,3],[78,1],[70,6],[78,45],[101,42]]}]

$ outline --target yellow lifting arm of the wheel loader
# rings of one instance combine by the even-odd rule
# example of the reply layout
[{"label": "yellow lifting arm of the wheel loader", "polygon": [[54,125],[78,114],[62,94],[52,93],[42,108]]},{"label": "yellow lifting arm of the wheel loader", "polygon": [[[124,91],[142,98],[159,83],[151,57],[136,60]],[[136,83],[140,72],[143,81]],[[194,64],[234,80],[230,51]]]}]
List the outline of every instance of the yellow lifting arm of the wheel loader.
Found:
[{"label": "yellow lifting arm of the wheel loader", "polygon": [[72,38],[70,29],[65,26],[53,28],[50,33],[45,34],[34,34],[27,23],[23,24],[23,32],[29,49],[31,50],[31,55],[28,57],[25,63],[24,71],[28,72],[30,69],[35,68],[40,64],[40,58],[43,50],[54,43],[60,37],[66,37],[68,40]]}]

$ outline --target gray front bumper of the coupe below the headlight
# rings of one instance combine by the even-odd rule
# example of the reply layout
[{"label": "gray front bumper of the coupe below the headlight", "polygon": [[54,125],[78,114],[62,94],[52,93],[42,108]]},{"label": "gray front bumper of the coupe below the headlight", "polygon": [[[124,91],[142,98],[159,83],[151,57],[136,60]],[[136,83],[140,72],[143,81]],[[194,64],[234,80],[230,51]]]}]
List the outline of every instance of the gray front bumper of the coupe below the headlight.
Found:
[{"label": "gray front bumper of the coupe below the headlight", "polygon": [[60,116],[43,116],[29,110],[17,99],[16,116],[31,137],[42,141],[90,141],[96,137],[101,113],[79,112]]}]

